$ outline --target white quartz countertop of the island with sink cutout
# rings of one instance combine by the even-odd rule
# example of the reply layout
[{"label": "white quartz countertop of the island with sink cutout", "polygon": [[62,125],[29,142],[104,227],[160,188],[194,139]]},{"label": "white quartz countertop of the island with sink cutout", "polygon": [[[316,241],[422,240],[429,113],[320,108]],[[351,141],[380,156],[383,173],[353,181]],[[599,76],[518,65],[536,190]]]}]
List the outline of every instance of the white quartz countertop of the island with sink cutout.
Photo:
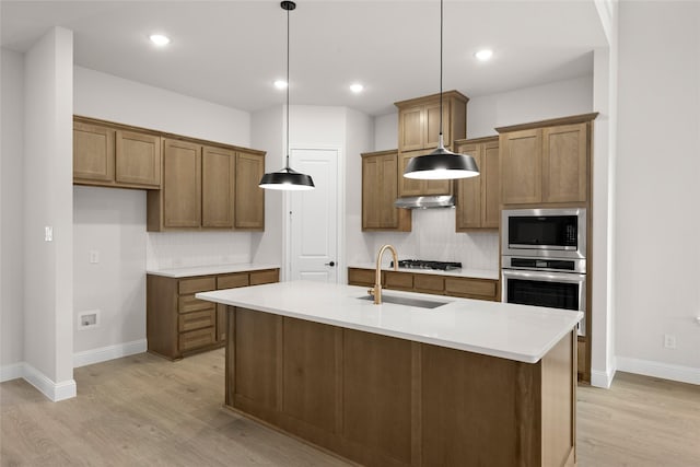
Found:
[{"label": "white quartz countertop of the island with sink cutout", "polygon": [[366,294],[362,287],[294,281],[201,292],[196,296],[526,363],[538,362],[583,318],[581,312],[393,290],[383,291],[383,296],[448,303],[433,310],[375,305],[359,300]]}]

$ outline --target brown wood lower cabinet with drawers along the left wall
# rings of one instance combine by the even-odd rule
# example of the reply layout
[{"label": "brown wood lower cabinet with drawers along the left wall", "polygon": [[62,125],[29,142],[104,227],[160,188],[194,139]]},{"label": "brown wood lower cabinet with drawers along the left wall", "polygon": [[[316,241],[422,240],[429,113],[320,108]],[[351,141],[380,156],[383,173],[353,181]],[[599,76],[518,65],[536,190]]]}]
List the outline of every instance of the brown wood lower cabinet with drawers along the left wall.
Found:
[{"label": "brown wood lower cabinet with drawers along the left wall", "polygon": [[226,307],[195,297],[197,292],[279,281],[279,269],[170,278],[147,275],[145,335],[149,352],[171,360],[222,347]]}]

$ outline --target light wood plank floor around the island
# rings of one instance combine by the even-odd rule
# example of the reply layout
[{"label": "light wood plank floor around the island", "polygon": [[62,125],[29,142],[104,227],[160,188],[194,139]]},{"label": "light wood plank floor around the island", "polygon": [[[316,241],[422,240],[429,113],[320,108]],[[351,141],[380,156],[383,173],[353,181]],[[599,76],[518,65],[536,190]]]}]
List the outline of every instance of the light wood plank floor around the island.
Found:
[{"label": "light wood plank floor around the island", "polygon": [[[223,350],[75,369],[78,397],[0,385],[1,466],[346,466],[222,407]],[[700,387],[618,373],[579,387],[580,466],[700,465]]]}]

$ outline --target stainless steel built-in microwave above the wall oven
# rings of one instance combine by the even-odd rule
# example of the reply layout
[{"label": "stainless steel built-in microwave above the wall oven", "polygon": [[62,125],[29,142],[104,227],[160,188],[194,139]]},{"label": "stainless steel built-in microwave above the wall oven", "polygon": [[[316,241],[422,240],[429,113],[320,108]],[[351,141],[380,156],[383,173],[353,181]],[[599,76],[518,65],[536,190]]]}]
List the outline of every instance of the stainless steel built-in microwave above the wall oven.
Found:
[{"label": "stainless steel built-in microwave above the wall oven", "polygon": [[586,210],[508,209],[501,219],[501,255],[586,257]]}]

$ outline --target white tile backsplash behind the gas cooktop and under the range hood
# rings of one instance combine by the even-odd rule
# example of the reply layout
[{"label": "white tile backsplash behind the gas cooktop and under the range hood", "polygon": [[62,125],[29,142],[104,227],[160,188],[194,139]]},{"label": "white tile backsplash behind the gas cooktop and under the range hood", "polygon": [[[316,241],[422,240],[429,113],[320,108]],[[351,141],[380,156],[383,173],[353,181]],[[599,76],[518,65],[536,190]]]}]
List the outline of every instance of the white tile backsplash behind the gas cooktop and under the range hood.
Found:
[{"label": "white tile backsplash behind the gas cooktop and under the range hood", "polygon": [[464,268],[498,271],[498,232],[455,232],[454,209],[416,209],[412,218],[410,233],[366,233],[365,260],[373,262],[378,248],[390,243],[399,259],[460,261]]}]

